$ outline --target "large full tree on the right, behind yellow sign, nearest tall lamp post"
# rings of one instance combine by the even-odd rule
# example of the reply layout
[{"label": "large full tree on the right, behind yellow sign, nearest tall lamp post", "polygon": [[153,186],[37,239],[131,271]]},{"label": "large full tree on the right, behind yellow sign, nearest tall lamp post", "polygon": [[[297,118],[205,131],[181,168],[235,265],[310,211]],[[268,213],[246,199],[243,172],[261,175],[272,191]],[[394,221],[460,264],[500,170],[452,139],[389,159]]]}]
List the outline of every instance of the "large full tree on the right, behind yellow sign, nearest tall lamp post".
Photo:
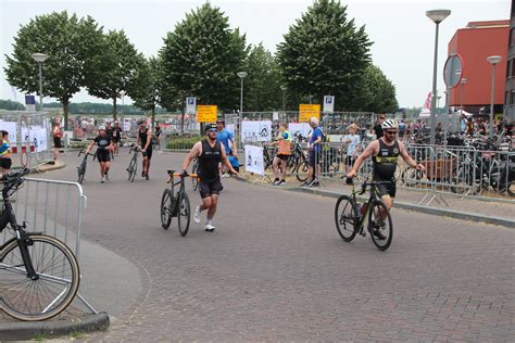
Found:
[{"label": "large full tree on the right, behind yellow sign, nearest tall lamp post", "polygon": [[314,102],[336,96],[337,109],[352,110],[372,42],[364,26],[348,20],[347,7],[316,0],[284,37],[278,59],[290,92],[312,94]]}]

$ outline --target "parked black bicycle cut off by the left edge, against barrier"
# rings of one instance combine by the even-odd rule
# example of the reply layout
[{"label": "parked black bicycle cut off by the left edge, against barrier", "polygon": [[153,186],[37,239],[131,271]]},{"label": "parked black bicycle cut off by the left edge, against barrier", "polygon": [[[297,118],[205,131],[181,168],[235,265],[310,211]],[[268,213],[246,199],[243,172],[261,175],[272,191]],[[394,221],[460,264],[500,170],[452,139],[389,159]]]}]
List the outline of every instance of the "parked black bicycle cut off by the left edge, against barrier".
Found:
[{"label": "parked black bicycle cut off by the left edge, against barrier", "polygon": [[22,187],[23,169],[4,175],[0,232],[13,238],[0,246],[0,308],[20,320],[47,320],[63,312],[77,293],[77,258],[60,240],[18,225],[10,198]]}]

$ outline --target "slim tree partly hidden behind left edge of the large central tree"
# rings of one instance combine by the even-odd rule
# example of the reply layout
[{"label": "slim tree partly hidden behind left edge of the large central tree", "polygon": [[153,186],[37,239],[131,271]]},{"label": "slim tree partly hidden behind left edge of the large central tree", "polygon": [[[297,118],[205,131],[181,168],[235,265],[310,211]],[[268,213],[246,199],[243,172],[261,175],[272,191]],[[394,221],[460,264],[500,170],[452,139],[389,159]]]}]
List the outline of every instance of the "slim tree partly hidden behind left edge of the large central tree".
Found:
[{"label": "slim tree partly hidden behind left edge of the large central tree", "polygon": [[155,122],[155,109],[160,103],[160,62],[156,58],[142,61],[136,71],[128,96],[134,105],[152,113],[152,126]]}]

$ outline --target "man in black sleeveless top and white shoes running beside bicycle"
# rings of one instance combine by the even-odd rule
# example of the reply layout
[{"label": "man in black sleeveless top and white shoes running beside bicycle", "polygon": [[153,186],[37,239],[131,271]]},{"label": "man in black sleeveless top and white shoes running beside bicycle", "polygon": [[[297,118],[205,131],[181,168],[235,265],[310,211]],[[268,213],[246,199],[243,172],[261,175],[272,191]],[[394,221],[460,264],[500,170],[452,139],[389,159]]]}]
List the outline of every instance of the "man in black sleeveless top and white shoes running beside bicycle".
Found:
[{"label": "man in black sleeveless top and white shoes running beside bicycle", "polygon": [[204,228],[205,231],[209,232],[216,228],[212,220],[216,213],[218,195],[222,190],[218,164],[222,162],[231,174],[238,174],[227,160],[224,145],[216,141],[216,132],[217,130],[215,126],[206,125],[206,139],[197,142],[183,163],[183,173],[187,173],[186,170],[191,161],[199,158],[198,175],[200,177],[199,190],[200,196],[202,198],[202,204],[197,206],[193,219],[196,223],[200,223],[201,211],[208,209],[208,218]]}]

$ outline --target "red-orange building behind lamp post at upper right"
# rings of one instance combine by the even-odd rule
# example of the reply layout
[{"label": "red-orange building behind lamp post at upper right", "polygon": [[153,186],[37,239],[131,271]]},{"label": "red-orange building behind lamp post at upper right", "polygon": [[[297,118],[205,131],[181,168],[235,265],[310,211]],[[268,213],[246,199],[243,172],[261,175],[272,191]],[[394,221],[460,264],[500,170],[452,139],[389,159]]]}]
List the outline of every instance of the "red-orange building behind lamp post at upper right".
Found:
[{"label": "red-orange building behind lamp post at upper right", "polygon": [[485,107],[485,114],[490,113],[492,66],[487,58],[500,55],[493,103],[494,113],[503,112],[508,35],[510,21],[470,22],[456,30],[449,42],[448,54],[457,53],[462,58],[462,78],[466,78],[466,84],[451,89],[451,106],[460,106],[463,101],[467,112],[478,114]]}]

